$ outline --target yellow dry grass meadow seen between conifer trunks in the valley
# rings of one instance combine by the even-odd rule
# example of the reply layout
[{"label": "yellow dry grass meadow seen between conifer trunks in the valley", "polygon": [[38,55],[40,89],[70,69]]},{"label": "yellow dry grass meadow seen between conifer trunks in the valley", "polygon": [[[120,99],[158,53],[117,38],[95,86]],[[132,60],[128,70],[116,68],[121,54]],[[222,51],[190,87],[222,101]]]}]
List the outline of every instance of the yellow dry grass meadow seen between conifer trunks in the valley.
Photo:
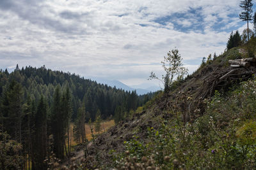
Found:
[{"label": "yellow dry grass meadow seen between conifer trunks in the valley", "polygon": [[[108,131],[108,129],[110,127],[113,127],[115,125],[115,121],[114,120],[108,120],[108,121],[104,121],[100,124],[100,134],[102,134],[105,131]],[[71,141],[71,145],[77,145],[76,141],[74,140],[74,136],[73,136],[73,127],[74,125],[72,124],[72,141]],[[92,123],[93,126],[93,134],[98,134],[98,132],[95,132],[94,130],[94,123]],[[90,129],[89,124],[85,124],[85,134],[86,134],[86,138],[90,141],[92,139],[92,132]]]}]

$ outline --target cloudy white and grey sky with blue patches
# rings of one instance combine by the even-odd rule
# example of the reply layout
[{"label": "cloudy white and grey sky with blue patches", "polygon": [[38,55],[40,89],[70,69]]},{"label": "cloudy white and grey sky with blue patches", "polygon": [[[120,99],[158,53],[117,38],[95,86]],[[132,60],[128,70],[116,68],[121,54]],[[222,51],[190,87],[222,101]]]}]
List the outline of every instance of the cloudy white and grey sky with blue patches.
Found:
[{"label": "cloudy white and grey sky with blue patches", "polygon": [[0,0],[0,68],[45,65],[127,85],[155,83],[175,46],[190,73],[243,30],[238,0]]}]

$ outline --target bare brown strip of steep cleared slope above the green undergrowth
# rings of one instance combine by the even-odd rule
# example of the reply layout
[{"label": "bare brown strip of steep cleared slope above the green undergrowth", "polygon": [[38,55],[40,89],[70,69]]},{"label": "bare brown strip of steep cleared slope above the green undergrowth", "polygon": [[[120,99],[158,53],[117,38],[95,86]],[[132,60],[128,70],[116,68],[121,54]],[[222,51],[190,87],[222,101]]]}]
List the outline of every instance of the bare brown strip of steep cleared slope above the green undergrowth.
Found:
[{"label": "bare brown strip of steep cleared slope above the green undergrowth", "polygon": [[[89,158],[86,159],[88,165],[97,165],[97,167],[115,165],[115,155],[124,153],[127,150],[124,143],[136,139],[136,136],[140,141],[146,142],[148,129],[159,129],[163,120],[172,120],[175,116],[173,111],[176,108],[184,112],[180,117],[182,122],[193,122],[196,118],[204,115],[204,101],[214,95],[215,90],[225,92],[232,85],[252,77],[252,74],[246,74],[245,76],[244,72],[256,73],[255,67],[241,67],[238,70],[241,73],[240,78],[232,80],[231,76],[223,81],[220,80],[221,76],[232,69],[228,66],[228,60],[240,59],[241,57],[244,56],[238,52],[237,48],[234,48],[216,59],[210,60],[184,81],[177,82],[170,94],[159,94],[143,107],[143,111],[137,111],[135,115],[127,118],[125,122],[115,125],[108,132],[100,135],[95,139],[95,142],[88,143],[86,150]],[[189,102],[186,100],[188,97],[190,99]],[[95,155],[97,157],[94,157]]]}]

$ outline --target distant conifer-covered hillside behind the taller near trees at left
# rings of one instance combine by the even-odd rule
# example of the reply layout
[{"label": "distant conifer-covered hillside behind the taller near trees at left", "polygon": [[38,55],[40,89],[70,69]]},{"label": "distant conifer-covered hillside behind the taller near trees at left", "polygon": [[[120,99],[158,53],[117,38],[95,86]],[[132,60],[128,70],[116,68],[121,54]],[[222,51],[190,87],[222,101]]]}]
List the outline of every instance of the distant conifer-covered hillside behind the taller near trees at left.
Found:
[{"label": "distant conifer-covered hillside behind the taller near trees at left", "polygon": [[17,81],[22,86],[23,99],[28,96],[38,103],[40,96],[47,99],[51,106],[54,89],[60,85],[61,89],[69,88],[72,94],[72,118],[76,118],[77,110],[81,103],[85,104],[86,112],[90,113],[87,121],[99,110],[103,118],[114,117],[117,106],[124,106],[124,111],[136,110],[138,106],[145,103],[147,94],[138,97],[134,92],[125,92],[122,89],[109,87],[96,81],[84,79],[76,74],[52,71],[45,67],[26,67],[19,69],[19,66],[12,73],[1,70],[0,73],[0,96],[12,81]]}]

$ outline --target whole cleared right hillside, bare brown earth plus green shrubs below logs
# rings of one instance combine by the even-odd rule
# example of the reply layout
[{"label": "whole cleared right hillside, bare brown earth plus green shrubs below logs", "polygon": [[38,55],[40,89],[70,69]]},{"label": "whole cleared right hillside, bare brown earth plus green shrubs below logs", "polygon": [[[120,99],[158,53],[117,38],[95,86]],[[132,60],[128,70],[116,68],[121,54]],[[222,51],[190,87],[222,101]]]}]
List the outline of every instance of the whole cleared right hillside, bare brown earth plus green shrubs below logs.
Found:
[{"label": "whole cleared right hillside, bare brown earth plus green shrubs below logs", "polygon": [[[200,66],[169,94],[148,101],[124,122],[88,143],[84,166],[255,167],[256,86],[252,73],[256,69],[241,67],[239,78],[236,74],[220,80],[232,69],[228,60],[243,57],[246,55],[239,53],[239,48],[232,48]],[[250,74],[243,74],[246,71]],[[250,143],[244,141],[246,128],[252,128],[247,136]]]}]

